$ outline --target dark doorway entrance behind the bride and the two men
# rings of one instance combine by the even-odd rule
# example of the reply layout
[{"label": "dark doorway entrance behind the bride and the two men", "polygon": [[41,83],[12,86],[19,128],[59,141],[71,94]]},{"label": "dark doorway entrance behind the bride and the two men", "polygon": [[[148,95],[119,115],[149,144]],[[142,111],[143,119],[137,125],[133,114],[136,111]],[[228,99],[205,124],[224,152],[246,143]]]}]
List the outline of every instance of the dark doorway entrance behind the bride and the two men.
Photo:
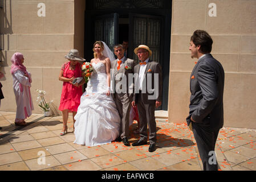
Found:
[{"label": "dark doorway entrance behind the bride and the two men", "polygon": [[96,40],[102,40],[110,49],[127,40],[128,57],[136,61],[133,50],[141,44],[149,46],[152,50],[150,59],[162,67],[162,106],[158,110],[168,110],[172,1],[147,2],[86,1],[84,57],[86,60],[93,58],[92,45]]}]

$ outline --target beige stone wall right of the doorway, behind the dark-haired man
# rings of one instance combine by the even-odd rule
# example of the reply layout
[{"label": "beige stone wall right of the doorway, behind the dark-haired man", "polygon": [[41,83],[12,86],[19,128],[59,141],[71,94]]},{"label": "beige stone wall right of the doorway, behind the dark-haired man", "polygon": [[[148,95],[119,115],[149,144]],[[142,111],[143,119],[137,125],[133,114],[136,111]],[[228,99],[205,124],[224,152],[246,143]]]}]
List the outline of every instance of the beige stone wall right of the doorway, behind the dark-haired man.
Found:
[{"label": "beige stone wall right of the doorway, behind the dark-haired man", "polygon": [[[209,11],[216,5],[216,15]],[[256,128],[256,1],[173,0],[169,121],[183,123],[189,112],[190,36],[206,30],[212,55],[225,70],[224,126]]]}]

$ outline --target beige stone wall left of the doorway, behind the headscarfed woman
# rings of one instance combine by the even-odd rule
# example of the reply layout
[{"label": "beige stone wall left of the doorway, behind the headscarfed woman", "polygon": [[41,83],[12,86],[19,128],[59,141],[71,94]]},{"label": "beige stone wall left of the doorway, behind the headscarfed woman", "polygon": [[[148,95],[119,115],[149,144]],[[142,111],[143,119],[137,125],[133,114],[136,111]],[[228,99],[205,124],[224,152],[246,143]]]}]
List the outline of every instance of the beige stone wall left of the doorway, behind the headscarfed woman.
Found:
[{"label": "beige stone wall left of the doorway, behind the headscarfed woman", "polygon": [[[39,3],[45,5],[45,16],[38,16]],[[1,79],[5,99],[0,110],[16,110],[10,58],[21,52],[24,65],[32,74],[33,113],[42,113],[36,104],[36,89],[46,91],[46,100],[53,100],[55,114],[59,113],[62,82],[58,78],[66,61],[64,55],[75,48],[83,56],[85,1],[3,0],[0,5],[1,71],[5,74]]]}]

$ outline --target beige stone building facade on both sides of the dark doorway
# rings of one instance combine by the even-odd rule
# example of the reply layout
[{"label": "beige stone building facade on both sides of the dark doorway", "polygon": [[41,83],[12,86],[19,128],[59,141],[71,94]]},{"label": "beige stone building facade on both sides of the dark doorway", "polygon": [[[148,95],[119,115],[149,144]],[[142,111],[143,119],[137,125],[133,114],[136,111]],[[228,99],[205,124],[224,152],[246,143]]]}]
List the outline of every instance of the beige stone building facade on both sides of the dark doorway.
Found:
[{"label": "beige stone building facade on both sides of the dark doorway", "polygon": [[[60,65],[66,61],[64,55],[70,49],[78,49],[80,55],[85,56],[88,1],[0,1],[0,64],[5,75],[0,80],[5,96],[1,111],[16,109],[10,58],[15,52],[22,52],[24,64],[32,74],[34,113],[42,113],[36,104],[35,90],[43,89],[46,100],[54,101],[52,112],[61,114],[58,111],[62,90],[62,82],[58,80]],[[140,2],[149,6],[157,1]],[[40,3],[45,5],[45,16],[40,14],[44,8]],[[256,128],[255,10],[255,0],[172,0],[169,60],[165,60],[169,67],[166,89],[169,89],[169,122],[184,123],[188,115],[189,78],[196,62],[190,57],[189,42],[193,31],[201,29],[212,36],[212,55],[225,70],[224,125]]]}]

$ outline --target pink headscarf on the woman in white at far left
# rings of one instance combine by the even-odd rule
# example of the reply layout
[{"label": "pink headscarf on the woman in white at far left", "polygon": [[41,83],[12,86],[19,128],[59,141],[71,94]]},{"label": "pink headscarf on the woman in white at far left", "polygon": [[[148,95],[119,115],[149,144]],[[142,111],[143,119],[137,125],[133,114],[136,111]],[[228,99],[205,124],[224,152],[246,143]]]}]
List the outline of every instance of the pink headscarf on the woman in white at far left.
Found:
[{"label": "pink headscarf on the woman in white at far left", "polygon": [[[21,70],[24,74],[29,74],[27,73],[27,68],[21,63],[21,60],[23,59],[22,53],[16,52],[14,55],[11,57],[11,74],[14,74],[16,71]],[[29,80],[31,80],[29,76]],[[31,81],[30,81],[31,82]]]}]

